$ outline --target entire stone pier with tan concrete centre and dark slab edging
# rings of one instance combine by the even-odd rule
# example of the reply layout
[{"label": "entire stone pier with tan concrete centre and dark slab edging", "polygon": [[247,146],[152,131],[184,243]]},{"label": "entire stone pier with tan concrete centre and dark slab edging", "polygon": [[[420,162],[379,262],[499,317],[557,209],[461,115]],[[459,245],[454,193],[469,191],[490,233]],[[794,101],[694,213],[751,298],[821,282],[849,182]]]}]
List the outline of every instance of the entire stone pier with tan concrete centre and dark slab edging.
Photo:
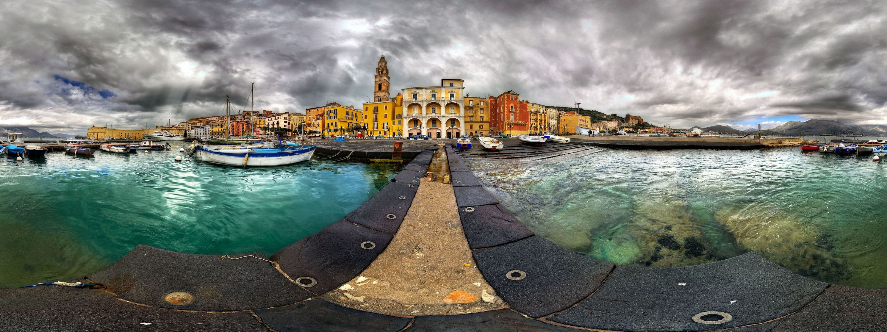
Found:
[{"label": "entire stone pier with tan concrete centre and dark slab edging", "polygon": [[[524,228],[451,147],[436,151],[421,151],[364,205],[271,258],[140,245],[86,277],[98,289],[0,290],[0,329],[877,331],[887,318],[887,290],[830,286],[755,252],[656,268],[568,251]],[[389,285],[371,290],[373,282]],[[395,289],[430,294],[369,301]],[[404,314],[406,305],[418,313]]]}]

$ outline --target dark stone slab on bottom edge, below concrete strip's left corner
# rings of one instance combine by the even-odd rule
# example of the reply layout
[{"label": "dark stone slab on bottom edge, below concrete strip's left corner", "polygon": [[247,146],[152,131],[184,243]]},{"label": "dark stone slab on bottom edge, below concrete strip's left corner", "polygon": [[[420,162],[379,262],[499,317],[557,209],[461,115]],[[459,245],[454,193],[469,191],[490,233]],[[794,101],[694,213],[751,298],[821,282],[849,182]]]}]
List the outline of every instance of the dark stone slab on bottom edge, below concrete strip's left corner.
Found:
[{"label": "dark stone slab on bottom edge, below concrete strip's left corner", "polygon": [[265,324],[280,332],[396,332],[406,327],[408,318],[379,313],[362,312],[322,299],[312,299],[297,305],[256,310]]}]

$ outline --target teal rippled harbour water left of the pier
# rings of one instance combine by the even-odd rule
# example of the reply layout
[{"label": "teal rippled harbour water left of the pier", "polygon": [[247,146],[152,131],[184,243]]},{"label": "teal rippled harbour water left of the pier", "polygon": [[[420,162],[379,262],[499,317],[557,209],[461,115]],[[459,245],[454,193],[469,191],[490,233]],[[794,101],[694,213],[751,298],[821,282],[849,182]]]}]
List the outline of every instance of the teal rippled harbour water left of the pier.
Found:
[{"label": "teal rippled harbour water left of the pier", "polygon": [[340,220],[401,168],[313,159],[245,169],[177,155],[0,156],[0,288],[81,278],[140,243],[271,255]]}]

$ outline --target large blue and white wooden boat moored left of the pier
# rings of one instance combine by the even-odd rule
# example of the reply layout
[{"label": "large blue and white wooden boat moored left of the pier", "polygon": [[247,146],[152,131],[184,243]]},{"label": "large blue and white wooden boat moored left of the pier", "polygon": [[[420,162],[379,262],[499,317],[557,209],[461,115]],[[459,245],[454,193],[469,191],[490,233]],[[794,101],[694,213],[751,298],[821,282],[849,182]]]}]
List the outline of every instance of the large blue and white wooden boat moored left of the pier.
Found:
[{"label": "large blue and white wooden boat moored left of the pier", "polygon": [[310,160],[314,144],[283,148],[212,149],[200,144],[194,146],[194,156],[200,161],[230,166],[282,166]]}]

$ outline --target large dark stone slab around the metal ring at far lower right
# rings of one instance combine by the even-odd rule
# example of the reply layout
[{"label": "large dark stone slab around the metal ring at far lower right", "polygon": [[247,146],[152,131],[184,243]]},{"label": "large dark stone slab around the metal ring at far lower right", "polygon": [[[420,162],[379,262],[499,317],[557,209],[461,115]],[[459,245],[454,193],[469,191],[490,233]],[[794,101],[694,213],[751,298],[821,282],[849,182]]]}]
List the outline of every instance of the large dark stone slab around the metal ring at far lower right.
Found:
[{"label": "large dark stone slab around the metal ring at far lower right", "polygon": [[[593,297],[549,320],[622,331],[732,328],[793,313],[825,288],[826,283],[794,274],[754,251],[698,266],[616,266]],[[733,320],[695,322],[703,312],[728,313]]]}]

